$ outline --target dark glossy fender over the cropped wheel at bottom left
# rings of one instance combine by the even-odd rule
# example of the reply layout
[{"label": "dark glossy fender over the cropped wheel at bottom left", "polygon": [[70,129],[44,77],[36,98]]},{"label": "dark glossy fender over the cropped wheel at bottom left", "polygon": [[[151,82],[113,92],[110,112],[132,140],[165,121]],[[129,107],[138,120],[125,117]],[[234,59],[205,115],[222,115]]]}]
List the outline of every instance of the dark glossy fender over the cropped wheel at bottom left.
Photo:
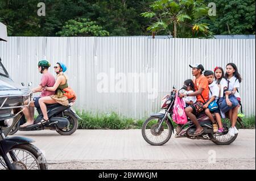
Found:
[{"label": "dark glossy fender over the cropped wheel at bottom left", "polygon": [[5,140],[0,141],[0,146],[4,154],[7,154],[15,145],[28,144],[35,142],[30,138],[24,138],[19,136],[7,137]]}]

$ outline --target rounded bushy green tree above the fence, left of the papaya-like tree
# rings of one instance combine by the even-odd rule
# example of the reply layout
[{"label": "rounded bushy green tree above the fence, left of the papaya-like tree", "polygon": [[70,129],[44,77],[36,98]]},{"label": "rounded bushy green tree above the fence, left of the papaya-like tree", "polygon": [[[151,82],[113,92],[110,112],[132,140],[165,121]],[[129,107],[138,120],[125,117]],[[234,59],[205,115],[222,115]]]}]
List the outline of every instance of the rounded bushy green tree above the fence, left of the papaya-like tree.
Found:
[{"label": "rounded bushy green tree above the fence, left of the papaya-like tree", "polygon": [[60,32],[60,36],[109,36],[109,32],[103,30],[96,22],[86,18],[68,20]]}]

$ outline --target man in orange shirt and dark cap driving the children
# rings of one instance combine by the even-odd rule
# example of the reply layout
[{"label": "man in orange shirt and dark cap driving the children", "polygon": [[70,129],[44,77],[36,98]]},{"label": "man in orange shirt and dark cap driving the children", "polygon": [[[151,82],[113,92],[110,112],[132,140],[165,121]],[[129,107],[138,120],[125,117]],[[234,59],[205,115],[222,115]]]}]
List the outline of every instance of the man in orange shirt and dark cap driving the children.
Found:
[{"label": "man in orange shirt and dark cap driving the children", "polygon": [[204,66],[201,64],[189,66],[192,68],[192,75],[195,76],[195,79],[193,80],[195,92],[180,94],[180,98],[183,98],[184,96],[196,96],[196,103],[185,108],[185,112],[189,119],[191,119],[191,121],[196,125],[194,136],[199,136],[204,132],[204,129],[197,121],[196,115],[204,110],[203,106],[209,99],[209,86],[207,78],[203,75]]}]

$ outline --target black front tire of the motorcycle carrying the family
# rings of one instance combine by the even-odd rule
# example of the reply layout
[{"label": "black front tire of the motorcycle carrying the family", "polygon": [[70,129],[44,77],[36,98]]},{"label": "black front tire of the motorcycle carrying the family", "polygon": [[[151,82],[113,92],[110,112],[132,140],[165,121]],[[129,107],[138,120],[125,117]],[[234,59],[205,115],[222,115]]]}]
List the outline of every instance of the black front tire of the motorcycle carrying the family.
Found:
[{"label": "black front tire of the motorcycle carrying the family", "polygon": [[[166,123],[166,125],[167,125],[167,127],[168,127],[168,128],[167,128],[168,134],[167,134],[166,139],[164,139],[164,140],[161,141],[161,142],[154,142],[154,141],[149,140],[148,137],[147,137],[147,135],[146,135],[146,127],[147,127],[147,124],[150,123],[151,120],[158,120],[158,121],[160,121],[161,119],[160,119],[159,117],[150,117],[149,119],[147,119],[147,120],[143,123],[143,125],[142,125],[142,136],[143,136],[144,140],[145,140],[148,144],[153,145],[153,146],[160,146],[160,145],[166,144],[166,142],[168,142],[168,141],[170,140],[171,136],[172,136],[172,125],[171,125],[171,123],[170,123],[169,121],[164,121],[164,123]],[[164,123],[163,123],[163,124],[164,124]],[[153,128],[153,126],[157,126],[157,125],[154,124],[154,125],[151,126],[151,128],[150,128],[151,133],[152,133],[152,128]],[[162,132],[163,132],[163,131],[162,131]],[[162,134],[162,132],[159,134],[159,136]],[[154,136],[154,135],[153,135],[153,136]]]}]

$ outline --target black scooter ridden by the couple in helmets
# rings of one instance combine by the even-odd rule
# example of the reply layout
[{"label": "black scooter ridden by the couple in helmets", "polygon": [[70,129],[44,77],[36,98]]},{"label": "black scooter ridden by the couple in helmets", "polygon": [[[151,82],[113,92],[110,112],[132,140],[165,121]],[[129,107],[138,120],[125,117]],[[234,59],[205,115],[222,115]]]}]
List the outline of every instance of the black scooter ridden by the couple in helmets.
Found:
[{"label": "black scooter ridden by the couple in helmets", "polygon": [[[22,83],[24,85],[24,83]],[[32,83],[29,83],[31,86]],[[17,131],[40,131],[44,129],[50,129],[56,131],[61,135],[71,135],[76,132],[77,127],[79,125],[79,119],[81,119],[75,110],[73,110],[72,106],[75,103],[75,100],[68,99],[68,106],[62,106],[61,104],[47,104],[47,114],[49,117],[49,121],[44,124],[38,124],[43,119],[43,113],[39,108],[39,115],[36,117],[34,124],[29,125],[27,127],[19,127],[20,125],[26,123],[26,117],[22,115],[18,124],[10,131],[10,135],[15,134]]]}]

